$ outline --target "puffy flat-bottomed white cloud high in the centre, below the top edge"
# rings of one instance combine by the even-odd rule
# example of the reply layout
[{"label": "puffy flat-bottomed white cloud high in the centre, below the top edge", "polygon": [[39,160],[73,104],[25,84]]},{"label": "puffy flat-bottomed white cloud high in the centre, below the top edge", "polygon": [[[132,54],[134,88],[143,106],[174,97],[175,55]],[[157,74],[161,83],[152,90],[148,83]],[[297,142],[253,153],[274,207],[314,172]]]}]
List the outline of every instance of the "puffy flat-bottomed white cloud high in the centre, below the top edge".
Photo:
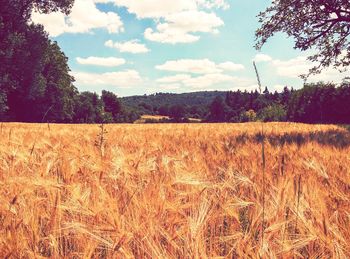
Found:
[{"label": "puffy flat-bottomed white cloud high in the centre, below the top edge", "polygon": [[200,39],[194,33],[218,33],[218,27],[224,22],[214,13],[203,11],[184,11],[168,15],[164,22],[158,23],[156,30],[147,28],[146,39],[160,43],[191,43]]}]

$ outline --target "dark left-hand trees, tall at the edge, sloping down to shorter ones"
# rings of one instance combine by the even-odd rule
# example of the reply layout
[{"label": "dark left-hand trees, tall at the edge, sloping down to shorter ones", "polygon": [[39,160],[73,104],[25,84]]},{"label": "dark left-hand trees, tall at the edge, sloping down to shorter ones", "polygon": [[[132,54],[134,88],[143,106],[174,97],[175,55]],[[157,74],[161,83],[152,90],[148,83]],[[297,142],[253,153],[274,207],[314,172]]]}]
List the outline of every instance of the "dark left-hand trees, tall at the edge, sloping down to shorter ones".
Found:
[{"label": "dark left-hand trees, tall at the edge, sloping down to shorter ones", "polygon": [[0,0],[0,121],[99,123],[132,122],[111,92],[79,93],[68,58],[41,25],[34,9],[68,13],[73,0]]}]

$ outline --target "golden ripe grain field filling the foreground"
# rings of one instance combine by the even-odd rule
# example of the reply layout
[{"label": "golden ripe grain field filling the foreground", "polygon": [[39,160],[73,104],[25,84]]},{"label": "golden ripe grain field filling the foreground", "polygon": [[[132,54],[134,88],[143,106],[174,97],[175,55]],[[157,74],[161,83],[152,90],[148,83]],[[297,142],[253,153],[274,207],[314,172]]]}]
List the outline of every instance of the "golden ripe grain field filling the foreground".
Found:
[{"label": "golden ripe grain field filling the foreground", "polygon": [[1,124],[0,258],[348,258],[350,133]]}]

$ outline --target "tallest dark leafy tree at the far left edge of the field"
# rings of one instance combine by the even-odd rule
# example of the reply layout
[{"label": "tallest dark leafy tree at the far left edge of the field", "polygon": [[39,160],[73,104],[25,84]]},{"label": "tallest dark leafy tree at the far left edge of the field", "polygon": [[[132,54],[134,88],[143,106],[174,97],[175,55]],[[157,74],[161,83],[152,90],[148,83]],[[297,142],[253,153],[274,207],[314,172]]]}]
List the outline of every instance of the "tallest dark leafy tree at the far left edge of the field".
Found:
[{"label": "tallest dark leafy tree at the far left edge of the field", "polygon": [[[34,9],[68,14],[72,4],[73,0],[0,0],[0,120],[41,121],[55,109],[61,113],[53,120],[71,120],[72,99],[61,103],[74,93],[67,58],[42,26],[30,24],[30,17]],[[47,103],[52,98],[54,102]]]}]

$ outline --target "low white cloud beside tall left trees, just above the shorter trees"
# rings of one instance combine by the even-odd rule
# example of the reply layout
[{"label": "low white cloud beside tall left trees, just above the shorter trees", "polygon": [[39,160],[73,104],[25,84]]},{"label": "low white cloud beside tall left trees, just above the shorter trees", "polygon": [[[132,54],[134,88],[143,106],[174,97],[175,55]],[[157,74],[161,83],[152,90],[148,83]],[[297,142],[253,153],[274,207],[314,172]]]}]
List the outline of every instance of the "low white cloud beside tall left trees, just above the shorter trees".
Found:
[{"label": "low white cloud beside tall left trees, just above the shorter trees", "polygon": [[139,72],[126,70],[109,73],[72,72],[78,86],[107,86],[119,88],[131,88],[143,83]]}]

